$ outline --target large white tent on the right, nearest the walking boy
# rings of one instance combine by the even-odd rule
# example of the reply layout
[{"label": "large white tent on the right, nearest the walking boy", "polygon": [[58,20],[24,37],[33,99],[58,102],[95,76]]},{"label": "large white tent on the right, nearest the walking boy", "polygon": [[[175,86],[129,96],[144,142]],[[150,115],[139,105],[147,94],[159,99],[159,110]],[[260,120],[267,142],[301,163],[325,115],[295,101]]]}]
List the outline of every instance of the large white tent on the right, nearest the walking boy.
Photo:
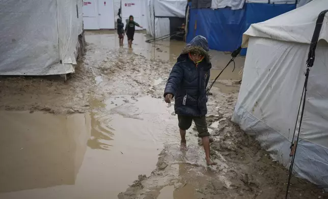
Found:
[{"label": "large white tent on the right, nearest the walking boy", "polygon": [[[262,147],[285,167],[290,164],[290,145],[309,46],[318,15],[326,9],[328,1],[313,0],[278,17],[252,24],[243,35],[243,47],[248,46],[248,52],[232,121],[255,135]],[[327,23],[326,15],[310,71],[294,164],[294,172],[300,177],[324,187],[328,187]]]}]

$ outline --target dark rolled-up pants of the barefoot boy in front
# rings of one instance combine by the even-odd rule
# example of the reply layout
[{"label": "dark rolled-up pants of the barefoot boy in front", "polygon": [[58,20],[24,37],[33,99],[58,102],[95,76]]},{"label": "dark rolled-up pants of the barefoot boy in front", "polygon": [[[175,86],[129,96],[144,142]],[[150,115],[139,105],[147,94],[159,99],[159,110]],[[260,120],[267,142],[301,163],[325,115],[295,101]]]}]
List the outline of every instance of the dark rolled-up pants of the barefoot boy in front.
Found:
[{"label": "dark rolled-up pants of the barefoot boy in front", "polygon": [[190,116],[178,115],[178,120],[179,120],[179,128],[181,130],[189,129],[190,126],[192,126],[194,120],[198,131],[198,137],[203,138],[209,136],[205,116],[190,117]]}]

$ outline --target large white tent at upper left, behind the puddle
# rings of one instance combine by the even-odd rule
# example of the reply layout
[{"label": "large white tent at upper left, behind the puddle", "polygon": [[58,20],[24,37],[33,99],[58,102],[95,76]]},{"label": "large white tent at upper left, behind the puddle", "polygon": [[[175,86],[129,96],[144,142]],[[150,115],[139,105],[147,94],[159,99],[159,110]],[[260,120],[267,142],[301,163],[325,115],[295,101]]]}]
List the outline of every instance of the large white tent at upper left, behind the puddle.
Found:
[{"label": "large white tent at upper left, behind the puddle", "polygon": [[2,0],[0,75],[74,72],[82,6],[81,0]]}]

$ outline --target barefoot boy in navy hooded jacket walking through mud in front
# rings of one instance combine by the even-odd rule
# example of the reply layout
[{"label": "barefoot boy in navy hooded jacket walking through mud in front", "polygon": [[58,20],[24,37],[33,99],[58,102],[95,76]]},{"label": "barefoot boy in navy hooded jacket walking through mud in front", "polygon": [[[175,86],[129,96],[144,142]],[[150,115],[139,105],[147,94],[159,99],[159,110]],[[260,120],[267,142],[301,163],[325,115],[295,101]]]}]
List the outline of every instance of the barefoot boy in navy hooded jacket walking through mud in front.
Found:
[{"label": "barefoot boy in navy hooded jacket walking through mud in front", "polygon": [[210,159],[209,132],[207,129],[206,87],[212,68],[207,39],[195,37],[187,44],[174,65],[165,87],[166,103],[174,96],[174,110],[178,115],[181,149],[186,150],[186,130],[194,120],[198,137],[202,138],[207,165],[215,165]]}]

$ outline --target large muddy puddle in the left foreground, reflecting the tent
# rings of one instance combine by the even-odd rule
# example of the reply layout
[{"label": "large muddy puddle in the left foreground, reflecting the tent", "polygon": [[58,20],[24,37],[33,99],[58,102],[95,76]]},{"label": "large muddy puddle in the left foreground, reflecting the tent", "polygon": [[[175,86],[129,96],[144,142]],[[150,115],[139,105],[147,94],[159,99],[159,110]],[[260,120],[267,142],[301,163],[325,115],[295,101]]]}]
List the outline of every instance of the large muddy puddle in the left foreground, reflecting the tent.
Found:
[{"label": "large muddy puddle in the left foreground, reflecting the tent", "polygon": [[86,114],[0,112],[0,198],[117,198],[150,175],[175,136],[173,107],[149,96],[93,100]]}]

